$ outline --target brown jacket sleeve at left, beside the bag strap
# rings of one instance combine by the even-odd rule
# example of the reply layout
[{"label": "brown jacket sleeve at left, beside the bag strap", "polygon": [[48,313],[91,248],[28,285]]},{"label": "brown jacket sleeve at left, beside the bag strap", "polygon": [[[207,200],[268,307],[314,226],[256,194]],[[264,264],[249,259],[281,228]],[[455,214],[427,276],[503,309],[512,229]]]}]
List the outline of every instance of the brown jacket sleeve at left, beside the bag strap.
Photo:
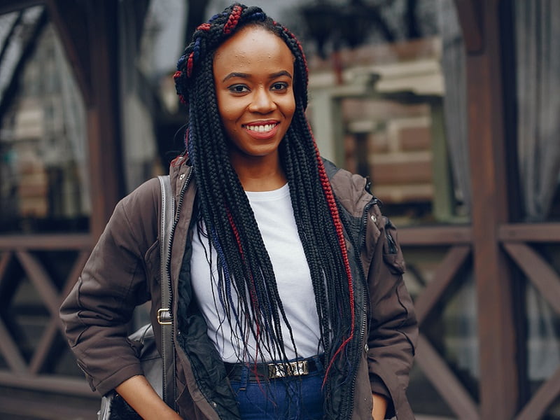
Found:
[{"label": "brown jacket sleeve at left, beside the bag strap", "polygon": [[[155,179],[155,183],[157,183]],[[60,308],[78,365],[102,395],[142,374],[127,339],[134,308],[150,298],[146,254],[158,250],[158,189],[154,180],[121,200]]]}]

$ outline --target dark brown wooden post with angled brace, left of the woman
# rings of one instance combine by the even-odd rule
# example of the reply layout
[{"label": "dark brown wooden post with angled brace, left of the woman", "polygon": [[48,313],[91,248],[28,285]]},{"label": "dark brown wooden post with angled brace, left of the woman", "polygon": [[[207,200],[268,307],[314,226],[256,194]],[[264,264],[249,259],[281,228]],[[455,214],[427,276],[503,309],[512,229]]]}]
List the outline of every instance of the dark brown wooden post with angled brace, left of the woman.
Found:
[{"label": "dark brown wooden post with angled brace, left of the woman", "polygon": [[78,80],[87,112],[88,164],[97,241],[123,197],[118,94],[118,1],[46,0]]}]

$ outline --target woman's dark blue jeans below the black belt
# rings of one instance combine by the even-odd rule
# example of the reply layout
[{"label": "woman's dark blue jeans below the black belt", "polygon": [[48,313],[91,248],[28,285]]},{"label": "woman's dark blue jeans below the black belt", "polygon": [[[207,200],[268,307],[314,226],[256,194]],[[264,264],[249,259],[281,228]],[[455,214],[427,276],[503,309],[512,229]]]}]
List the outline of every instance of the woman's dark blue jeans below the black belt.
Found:
[{"label": "woman's dark blue jeans below the black belt", "polygon": [[316,358],[316,372],[295,377],[249,378],[250,367],[244,367],[239,380],[231,386],[243,420],[320,420],[323,419],[324,367]]}]

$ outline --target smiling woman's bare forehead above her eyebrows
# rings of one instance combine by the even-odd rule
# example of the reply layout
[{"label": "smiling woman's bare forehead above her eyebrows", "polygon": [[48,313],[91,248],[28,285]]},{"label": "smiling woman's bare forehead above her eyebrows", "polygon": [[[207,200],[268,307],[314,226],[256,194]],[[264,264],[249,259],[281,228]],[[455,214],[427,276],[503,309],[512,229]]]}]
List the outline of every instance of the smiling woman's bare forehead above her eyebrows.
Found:
[{"label": "smiling woman's bare forehead above her eyebrows", "polygon": [[288,45],[279,36],[263,27],[249,26],[218,47],[214,54],[214,74],[254,73],[272,67],[291,72],[294,59]]}]

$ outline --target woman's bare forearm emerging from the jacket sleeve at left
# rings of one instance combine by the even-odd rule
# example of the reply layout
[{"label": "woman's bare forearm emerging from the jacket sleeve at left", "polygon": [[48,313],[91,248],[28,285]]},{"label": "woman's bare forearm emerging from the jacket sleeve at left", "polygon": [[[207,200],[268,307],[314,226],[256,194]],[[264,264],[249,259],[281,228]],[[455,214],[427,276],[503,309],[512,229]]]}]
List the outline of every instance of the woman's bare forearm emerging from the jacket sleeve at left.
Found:
[{"label": "woman's bare forearm emerging from the jacket sleeve at left", "polygon": [[134,408],[144,420],[181,420],[181,416],[165,404],[142,375],[127,379],[115,391]]}]

